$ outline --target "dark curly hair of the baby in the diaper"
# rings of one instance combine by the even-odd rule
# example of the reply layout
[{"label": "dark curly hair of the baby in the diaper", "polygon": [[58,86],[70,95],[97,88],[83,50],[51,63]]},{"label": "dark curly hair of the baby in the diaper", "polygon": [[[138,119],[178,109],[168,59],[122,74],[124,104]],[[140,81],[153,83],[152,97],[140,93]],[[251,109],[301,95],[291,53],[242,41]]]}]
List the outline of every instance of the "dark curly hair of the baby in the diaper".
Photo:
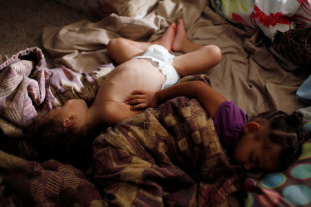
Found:
[{"label": "dark curly hair of the baby in the diaper", "polygon": [[41,159],[53,158],[75,166],[91,159],[92,143],[98,133],[91,126],[64,127],[60,117],[48,117],[46,113],[37,115],[23,131]]}]

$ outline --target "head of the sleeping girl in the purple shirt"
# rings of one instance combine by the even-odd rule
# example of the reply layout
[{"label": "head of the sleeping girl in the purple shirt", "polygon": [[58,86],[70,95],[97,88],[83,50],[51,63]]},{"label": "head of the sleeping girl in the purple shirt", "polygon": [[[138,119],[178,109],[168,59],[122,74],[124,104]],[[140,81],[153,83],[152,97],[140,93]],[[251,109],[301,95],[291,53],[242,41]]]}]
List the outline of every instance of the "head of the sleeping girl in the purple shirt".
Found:
[{"label": "head of the sleeping girl in the purple shirt", "polygon": [[276,171],[287,168],[301,154],[310,135],[302,128],[303,115],[283,111],[253,117],[236,142],[233,158],[245,170]]}]

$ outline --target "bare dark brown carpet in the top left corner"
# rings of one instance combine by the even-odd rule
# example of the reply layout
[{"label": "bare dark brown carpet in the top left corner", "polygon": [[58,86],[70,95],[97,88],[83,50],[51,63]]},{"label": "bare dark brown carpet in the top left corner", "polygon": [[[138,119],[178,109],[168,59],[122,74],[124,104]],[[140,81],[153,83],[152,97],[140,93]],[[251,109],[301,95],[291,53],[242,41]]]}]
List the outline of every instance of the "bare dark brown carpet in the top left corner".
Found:
[{"label": "bare dark brown carpet in the top left corner", "polygon": [[[82,19],[93,20],[56,0],[0,0],[0,55],[14,55],[19,50],[42,48],[41,31],[46,26],[66,26]],[[44,51],[48,66],[50,55]]]}]

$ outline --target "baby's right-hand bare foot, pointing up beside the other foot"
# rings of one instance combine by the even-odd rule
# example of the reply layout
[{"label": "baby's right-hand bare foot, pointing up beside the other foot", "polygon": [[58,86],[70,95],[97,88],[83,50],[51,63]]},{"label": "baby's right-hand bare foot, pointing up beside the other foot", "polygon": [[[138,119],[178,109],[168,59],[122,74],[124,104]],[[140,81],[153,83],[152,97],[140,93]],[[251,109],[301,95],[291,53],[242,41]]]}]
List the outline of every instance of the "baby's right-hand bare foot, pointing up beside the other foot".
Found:
[{"label": "baby's right-hand bare foot, pointing up beside the other foot", "polygon": [[182,21],[182,19],[179,19],[172,49],[176,52],[177,51],[183,52],[183,48],[187,45],[188,41],[189,39],[187,38],[187,32],[185,30],[184,22]]}]

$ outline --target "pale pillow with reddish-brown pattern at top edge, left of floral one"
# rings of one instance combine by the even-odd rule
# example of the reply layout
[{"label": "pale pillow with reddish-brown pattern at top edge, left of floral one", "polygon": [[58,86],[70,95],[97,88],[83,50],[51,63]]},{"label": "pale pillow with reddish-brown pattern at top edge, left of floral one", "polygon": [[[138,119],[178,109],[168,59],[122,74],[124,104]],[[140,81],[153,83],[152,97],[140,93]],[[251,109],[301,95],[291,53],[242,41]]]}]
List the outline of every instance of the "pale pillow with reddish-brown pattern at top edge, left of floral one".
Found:
[{"label": "pale pillow with reddish-brown pattern at top edge, left of floral one", "polygon": [[144,17],[159,0],[58,0],[67,6],[91,14],[96,19],[102,19],[111,13],[120,16]]}]

